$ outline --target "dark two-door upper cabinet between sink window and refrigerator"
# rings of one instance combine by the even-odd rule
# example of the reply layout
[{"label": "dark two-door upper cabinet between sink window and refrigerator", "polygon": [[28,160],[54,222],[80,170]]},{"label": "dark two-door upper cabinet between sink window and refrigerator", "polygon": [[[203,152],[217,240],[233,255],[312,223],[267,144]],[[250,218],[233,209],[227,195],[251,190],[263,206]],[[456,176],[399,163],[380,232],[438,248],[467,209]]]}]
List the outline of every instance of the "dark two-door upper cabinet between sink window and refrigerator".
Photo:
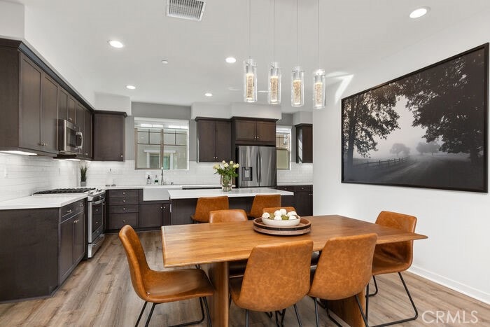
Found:
[{"label": "dark two-door upper cabinet between sink window and refrigerator", "polygon": [[197,161],[217,162],[231,158],[230,120],[196,118]]}]

